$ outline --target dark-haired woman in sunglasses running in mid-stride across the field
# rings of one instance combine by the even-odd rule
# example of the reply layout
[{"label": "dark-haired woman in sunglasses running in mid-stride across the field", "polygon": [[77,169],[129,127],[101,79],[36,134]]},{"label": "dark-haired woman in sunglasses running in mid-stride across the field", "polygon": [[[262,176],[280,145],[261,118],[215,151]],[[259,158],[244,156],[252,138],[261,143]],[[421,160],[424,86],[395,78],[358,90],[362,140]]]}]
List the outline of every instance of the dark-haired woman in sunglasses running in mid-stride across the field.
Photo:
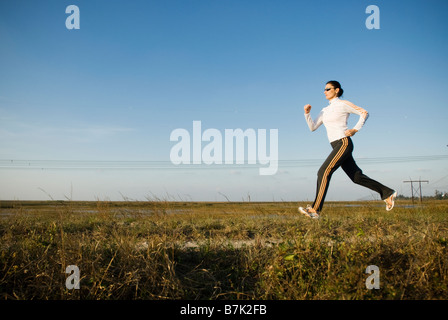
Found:
[{"label": "dark-haired woman in sunglasses running in mid-stride across the field", "polygon": [[[323,124],[327,129],[327,137],[333,148],[317,173],[316,198],[313,205],[306,208],[299,207],[299,212],[314,219],[320,217],[331,176],[339,167],[342,167],[354,183],[378,192],[381,199],[386,202],[387,211],[392,210],[397,196],[395,190],[363,174],[353,159],[353,142],[350,137],[361,130],[369,114],[363,108],[347,100],[339,99],[343,92],[344,90],[338,81],[328,81],[324,93],[330,104],[322,109],[315,120],[310,115],[311,105],[304,106],[305,119],[310,130],[314,131]],[[347,127],[347,119],[350,113],[359,115],[359,121],[353,129]]]}]

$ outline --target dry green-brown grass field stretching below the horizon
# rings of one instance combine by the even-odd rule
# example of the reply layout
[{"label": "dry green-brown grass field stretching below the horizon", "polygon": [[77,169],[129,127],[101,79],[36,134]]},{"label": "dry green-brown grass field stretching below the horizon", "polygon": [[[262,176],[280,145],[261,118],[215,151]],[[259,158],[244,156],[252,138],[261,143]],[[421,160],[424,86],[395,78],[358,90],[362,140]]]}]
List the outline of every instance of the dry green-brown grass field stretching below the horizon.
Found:
[{"label": "dry green-brown grass field stretching below the horizon", "polygon": [[448,299],[448,201],[297,206],[2,201],[0,299]]}]

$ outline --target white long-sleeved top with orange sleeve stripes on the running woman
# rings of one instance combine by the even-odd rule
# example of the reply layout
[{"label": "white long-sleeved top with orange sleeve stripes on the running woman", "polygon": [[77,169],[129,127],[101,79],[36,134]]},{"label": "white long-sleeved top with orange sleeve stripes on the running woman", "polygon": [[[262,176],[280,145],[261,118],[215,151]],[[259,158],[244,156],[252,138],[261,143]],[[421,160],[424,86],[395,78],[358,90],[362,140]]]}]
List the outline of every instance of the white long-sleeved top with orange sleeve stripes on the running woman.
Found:
[{"label": "white long-sleeved top with orange sleeve stripes on the running woman", "polygon": [[333,142],[345,137],[350,113],[359,115],[359,121],[353,128],[359,131],[369,117],[369,113],[350,101],[339,98],[332,99],[328,107],[323,108],[315,120],[311,118],[310,113],[305,113],[305,119],[311,131],[324,124],[327,129],[328,140]]}]

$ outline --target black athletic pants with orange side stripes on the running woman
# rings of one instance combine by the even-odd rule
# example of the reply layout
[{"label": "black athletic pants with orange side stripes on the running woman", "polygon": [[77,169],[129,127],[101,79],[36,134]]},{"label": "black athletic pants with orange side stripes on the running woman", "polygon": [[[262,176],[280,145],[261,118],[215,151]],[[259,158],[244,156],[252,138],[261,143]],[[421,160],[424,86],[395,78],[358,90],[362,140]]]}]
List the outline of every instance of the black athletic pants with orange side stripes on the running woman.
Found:
[{"label": "black athletic pants with orange side stripes on the running woman", "polygon": [[322,210],[331,176],[339,167],[342,167],[354,183],[378,192],[382,200],[390,197],[394,193],[394,190],[370,179],[362,173],[362,170],[357,166],[355,159],[353,159],[353,142],[350,137],[333,141],[331,146],[333,147],[333,151],[317,173],[316,199],[313,203],[314,210],[317,212]]}]

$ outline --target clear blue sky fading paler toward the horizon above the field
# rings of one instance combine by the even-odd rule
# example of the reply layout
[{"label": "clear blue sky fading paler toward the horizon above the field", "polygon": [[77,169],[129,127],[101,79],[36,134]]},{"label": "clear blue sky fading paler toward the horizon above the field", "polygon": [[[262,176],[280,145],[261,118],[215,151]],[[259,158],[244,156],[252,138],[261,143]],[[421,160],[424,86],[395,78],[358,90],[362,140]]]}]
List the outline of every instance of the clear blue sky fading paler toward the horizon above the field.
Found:
[{"label": "clear blue sky fading paler toward the horizon above the field", "polygon": [[[72,4],[79,30],[65,26]],[[379,30],[365,26],[372,4]],[[365,174],[405,195],[410,178],[430,181],[425,194],[448,191],[447,9],[443,0],[1,1],[0,200],[311,201],[330,146],[324,127],[309,131],[303,106],[316,116],[333,79],[370,113],[354,137]],[[193,121],[278,129],[277,174],[172,165],[170,134]],[[337,171],[327,200],[357,199],[378,196]]]}]

